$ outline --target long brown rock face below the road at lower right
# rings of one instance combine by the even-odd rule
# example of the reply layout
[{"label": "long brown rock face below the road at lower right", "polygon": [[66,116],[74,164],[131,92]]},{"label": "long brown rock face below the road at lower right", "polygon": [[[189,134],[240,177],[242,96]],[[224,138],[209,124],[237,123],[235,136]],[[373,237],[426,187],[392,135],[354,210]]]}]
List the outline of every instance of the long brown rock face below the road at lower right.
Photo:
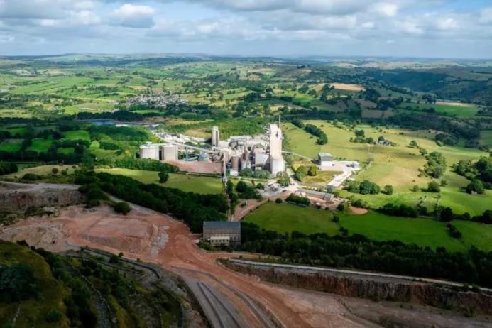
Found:
[{"label": "long brown rock face below the road at lower right", "polygon": [[361,277],[345,273],[255,266],[233,261],[224,261],[224,264],[240,273],[255,275],[270,283],[348,297],[415,302],[447,310],[478,311],[485,315],[492,315],[492,295],[463,291],[445,285],[396,278]]}]

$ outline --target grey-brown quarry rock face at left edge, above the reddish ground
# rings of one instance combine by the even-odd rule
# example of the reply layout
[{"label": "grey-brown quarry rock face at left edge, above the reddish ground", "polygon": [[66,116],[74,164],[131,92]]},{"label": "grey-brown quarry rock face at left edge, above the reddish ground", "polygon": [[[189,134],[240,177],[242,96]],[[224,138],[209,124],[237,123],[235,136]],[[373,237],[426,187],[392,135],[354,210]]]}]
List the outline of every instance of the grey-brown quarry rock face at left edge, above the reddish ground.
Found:
[{"label": "grey-brown quarry rock face at left edge, above the reddish ground", "polygon": [[82,202],[82,194],[72,185],[28,185],[0,182],[0,209],[16,211],[28,207],[67,206]]}]

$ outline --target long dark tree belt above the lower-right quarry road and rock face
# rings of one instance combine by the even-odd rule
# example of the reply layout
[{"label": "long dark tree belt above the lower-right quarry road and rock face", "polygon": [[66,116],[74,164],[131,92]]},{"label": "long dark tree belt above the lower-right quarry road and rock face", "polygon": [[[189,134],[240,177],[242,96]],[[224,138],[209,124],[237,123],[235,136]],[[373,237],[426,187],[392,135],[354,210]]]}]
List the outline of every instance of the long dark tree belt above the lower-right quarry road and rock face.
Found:
[{"label": "long dark tree belt above the lower-right quarry road and rock face", "polygon": [[492,287],[492,252],[471,248],[449,253],[444,248],[422,248],[400,241],[372,241],[365,236],[290,236],[241,224],[241,251],[280,256],[284,261],[341,268],[356,268],[400,275],[440,278]]}]

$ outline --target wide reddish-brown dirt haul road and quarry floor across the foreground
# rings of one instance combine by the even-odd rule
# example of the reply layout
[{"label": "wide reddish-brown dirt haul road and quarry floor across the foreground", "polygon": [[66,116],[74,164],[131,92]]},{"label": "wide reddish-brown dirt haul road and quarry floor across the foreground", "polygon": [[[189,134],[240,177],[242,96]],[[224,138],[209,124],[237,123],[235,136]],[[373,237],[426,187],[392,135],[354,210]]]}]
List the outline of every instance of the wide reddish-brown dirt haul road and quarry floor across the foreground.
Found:
[{"label": "wide reddish-brown dirt haul road and quarry floor across the foreground", "polygon": [[[127,258],[159,263],[166,270],[211,285],[231,302],[248,327],[265,317],[283,327],[368,327],[329,294],[263,283],[217,263],[231,253],[207,253],[182,222],[143,207],[126,216],[109,207],[68,207],[57,218],[27,219],[0,231],[0,238],[26,240],[49,251],[89,246]],[[261,313],[258,312],[261,309]]]}]

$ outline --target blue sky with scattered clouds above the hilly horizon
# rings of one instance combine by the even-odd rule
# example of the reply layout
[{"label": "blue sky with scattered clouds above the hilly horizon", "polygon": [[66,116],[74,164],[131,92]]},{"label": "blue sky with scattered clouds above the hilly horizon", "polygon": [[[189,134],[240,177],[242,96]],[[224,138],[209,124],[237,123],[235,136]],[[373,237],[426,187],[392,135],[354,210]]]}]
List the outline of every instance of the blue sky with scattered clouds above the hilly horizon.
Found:
[{"label": "blue sky with scattered clouds above the hilly horizon", "polygon": [[492,58],[492,0],[0,0],[0,55]]}]

